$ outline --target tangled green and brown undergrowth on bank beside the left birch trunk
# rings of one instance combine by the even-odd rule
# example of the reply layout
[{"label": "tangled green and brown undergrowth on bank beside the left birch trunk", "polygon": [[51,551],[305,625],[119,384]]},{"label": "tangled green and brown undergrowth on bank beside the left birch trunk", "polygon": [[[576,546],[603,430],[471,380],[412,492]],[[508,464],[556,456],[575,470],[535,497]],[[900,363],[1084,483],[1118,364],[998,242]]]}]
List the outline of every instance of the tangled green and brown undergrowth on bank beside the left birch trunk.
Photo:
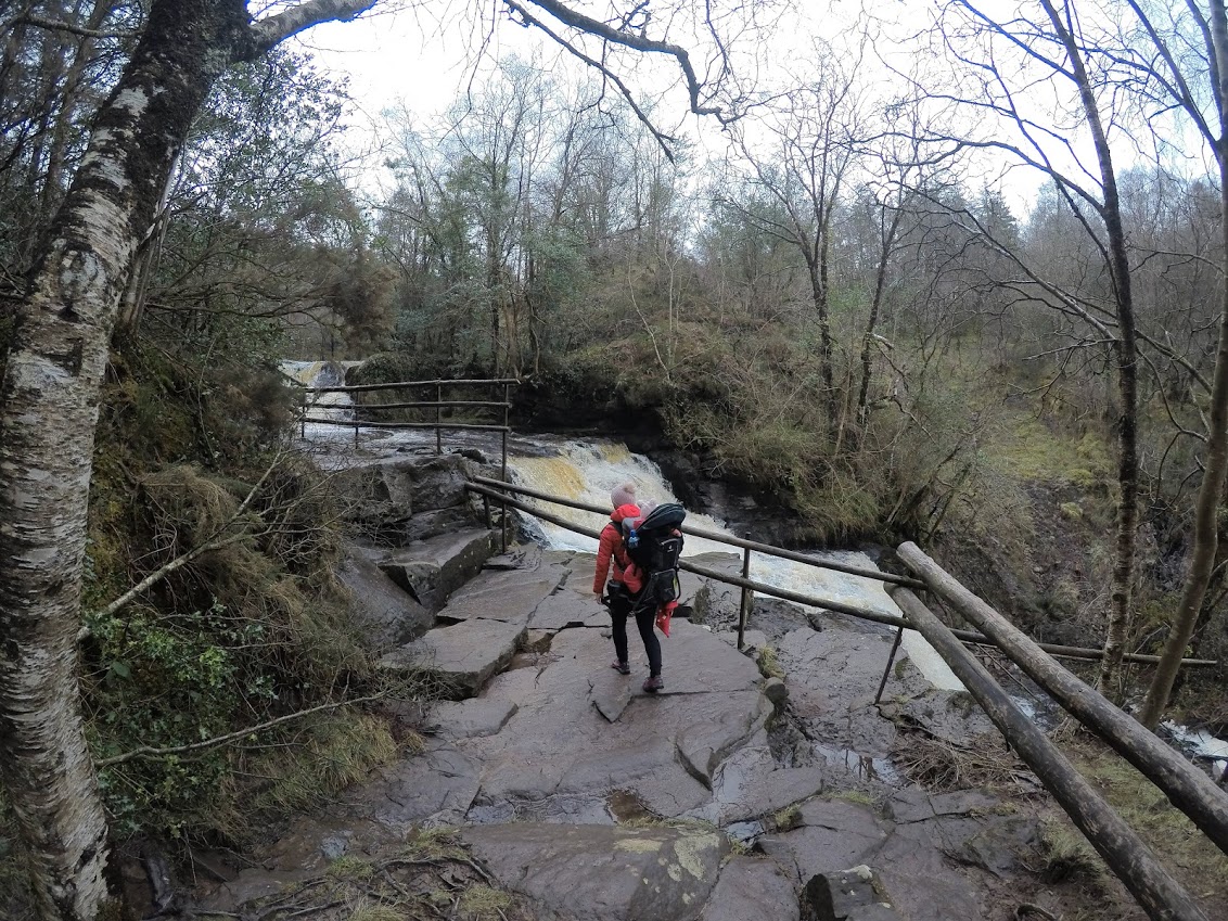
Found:
[{"label": "tangled green and brown undergrowth on bank beside the left birch trunk", "polygon": [[[290,388],[262,395],[260,381],[275,372],[193,367],[146,343],[104,388],[82,691],[118,837],[242,844],[397,752],[382,720],[345,706],[379,685],[334,575],[341,510],[281,447]],[[123,760],[324,705],[226,745]]]}]

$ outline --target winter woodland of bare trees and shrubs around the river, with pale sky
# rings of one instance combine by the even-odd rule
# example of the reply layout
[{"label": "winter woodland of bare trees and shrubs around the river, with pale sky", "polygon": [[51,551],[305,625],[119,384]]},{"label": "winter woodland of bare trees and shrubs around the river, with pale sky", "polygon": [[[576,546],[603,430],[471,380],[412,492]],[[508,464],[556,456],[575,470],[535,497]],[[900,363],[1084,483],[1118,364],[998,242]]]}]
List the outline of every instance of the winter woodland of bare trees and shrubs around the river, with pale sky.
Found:
[{"label": "winter woodland of bare trees and shrubs around the river, with pale sky", "polygon": [[[647,425],[792,545],[916,540],[1148,727],[1228,725],[1178,670],[1228,655],[1223,2],[919,2],[781,61],[808,6],[505,0],[542,48],[375,135],[282,42],[371,5],[0,9],[0,844],[39,917],[102,916],[104,841],[242,840],[394,744],[344,716],[375,678],[282,359]],[[295,710],[333,776],[130,756]]]}]

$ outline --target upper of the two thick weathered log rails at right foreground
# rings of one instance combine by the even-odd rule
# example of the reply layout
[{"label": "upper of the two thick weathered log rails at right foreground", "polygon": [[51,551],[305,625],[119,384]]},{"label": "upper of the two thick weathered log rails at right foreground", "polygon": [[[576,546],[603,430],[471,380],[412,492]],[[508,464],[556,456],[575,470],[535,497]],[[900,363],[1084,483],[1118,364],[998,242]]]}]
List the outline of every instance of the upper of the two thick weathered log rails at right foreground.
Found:
[{"label": "upper of the two thick weathered log rails at right foreground", "polygon": [[1210,776],[1148,732],[1133,717],[1054,662],[1032,639],[959,585],[916,544],[901,544],[899,555],[931,591],[993,640],[1007,658],[1019,666],[1076,720],[1094,729],[1114,752],[1163,790],[1173,806],[1189,815],[1221,851],[1228,853],[1228,792],[1217,787]]}]

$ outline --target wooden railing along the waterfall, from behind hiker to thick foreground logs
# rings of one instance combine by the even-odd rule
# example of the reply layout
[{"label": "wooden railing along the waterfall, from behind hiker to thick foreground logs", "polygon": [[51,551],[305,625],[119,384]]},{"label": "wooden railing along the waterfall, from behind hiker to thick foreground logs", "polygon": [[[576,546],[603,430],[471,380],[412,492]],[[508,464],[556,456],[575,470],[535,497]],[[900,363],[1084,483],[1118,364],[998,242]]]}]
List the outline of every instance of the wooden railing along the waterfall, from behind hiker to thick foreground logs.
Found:
[{"label": "wooden railing along the waterfall, from behind hiker to thick foreground logs", "polygon": [[[473,478],[467,484],[467,489],[486,499],[488,516],[489,502],[491,500],[502,505],[505,545],[508,507],[533,515],[577,534],[585,534],[593,539],[599,538],[598,532],[591,528],[581,527],[556,515],[522,502],[518,499],[513,499],[510,494],[527,495],[554,505],[578,508],[597,515],[605,515],[609,511],[602,506],[560,499],[523,486],[513,486],[506,483],[506,476],[503,481]],[[887,669],[883,672],[883,682],[879,684],[878,694],[882,696],[904,630],[919,631],[985,709],[990,720],[1012,748],[1014,748],[1019,758],[1032,768],[1041,783],[1052,793],[1057,803],[1066,810],[1079,830],[1083,831],[1109,868],[1125,883],[1126,888],[1151,919],[1154,921],[1210,921],[1199,906],[1197,899],[1191,896],[1185,887],[1173,878],[1168,868],[1164,867],[1163,862],[1158,860],[1138,834],[1104,802],[1092,785],[1074,770],[1060,749],[1045,736],[1035,722],[1016,706],[1002,686],[969,652],[966,645],[993,646],[1001,650],[1007,658],[1032,677],[1071,716],[1098,733],[1117,754],[1163,790],[1173,806],[1185,813],[1214,846],[1228,853],[1228,793],[1219,790],[1214,785],[1214,781],[1180,753],[1156,738],[1131,716],[1115,707],[1094,689],[1083,684],[1077,675],[1050,658],[1050,656],[1099,658],[1103,656],[1100,650],[1051,646],[1032,641],[985,602],[960,586],[949,573],[941,570],[933,560],[921,553],[914,544],[906,543],[899,548],[900,558],[916,576],[909,577],[819,560],[792,550],[744,540],[729,534],[717,534],[690,526],[683,526],[683,532],[743,549],[740,578],[704,566],[696,566],[685,559],[679,561],[679,567],[688,572],[742,587],[742,607],[738,618],[738,648],[743,647],[747,615],[750,608],[750,592],[824,608],[879,624],[889,624],[896,628],[896,635],[895,643],[888,657]],[[799,592],[752,581],[748,576],[750,572],[750,553],[753,550],[810,566],[885,582],[892,597],[899,604],[903,616],[894,616],[831,599],[809,597]],[[935,597],[941,598],[960,615],[981,628],[984,632],[974,634],[965,630],[950,629],[912,593],[911,589],[914,588],[933,593]],[[1127,655],[1126,659],[1153,663],[1157,661],[1157,657]],[[1184,664],[1187,667],[1208,667],[1218,663],[1207,659],[1186,659]]]}]

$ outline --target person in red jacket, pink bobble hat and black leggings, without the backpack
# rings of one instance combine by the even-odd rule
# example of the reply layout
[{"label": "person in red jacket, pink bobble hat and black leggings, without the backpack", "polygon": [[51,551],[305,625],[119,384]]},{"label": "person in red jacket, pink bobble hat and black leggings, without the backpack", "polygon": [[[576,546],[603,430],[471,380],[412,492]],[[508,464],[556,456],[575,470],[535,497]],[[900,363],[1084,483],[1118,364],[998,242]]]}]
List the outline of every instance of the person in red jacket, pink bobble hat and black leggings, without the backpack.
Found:
[{"label": "person in red jacket, pink bobble hat and black leggings, without the backpack", "polygon": [[[636,505],[635,484],[624,483],[615,486],[610,491],[610,505],[614,511],[605,527],[602,528],[600,543],[597,548],[593,594],[597,596],[598,600],[602,600],[605,576],[613,564],[605,602],[613,621],[614,653],[618,658],[610,663],[610,668],[619,674],[631,674],[626,647],[626,619],[636,607],[636,596],[642,591],[643,582],[634,571],[628,573],[630,560],[623,546],[623,522],[626,518],[642,517],[640,506]],[[628,580],[629,575],[630,581]],[[643,683],[643,690],[650,694],[656,694],[664,688],[664,682],[661,680],[661,642],[652,632],[656,613],[656,607],[650,607],[647,610],[640,610],[635,614],[636,629],[640,631],[640,639],[643,640],[643,650],[648,653],[648,678]]]}]

